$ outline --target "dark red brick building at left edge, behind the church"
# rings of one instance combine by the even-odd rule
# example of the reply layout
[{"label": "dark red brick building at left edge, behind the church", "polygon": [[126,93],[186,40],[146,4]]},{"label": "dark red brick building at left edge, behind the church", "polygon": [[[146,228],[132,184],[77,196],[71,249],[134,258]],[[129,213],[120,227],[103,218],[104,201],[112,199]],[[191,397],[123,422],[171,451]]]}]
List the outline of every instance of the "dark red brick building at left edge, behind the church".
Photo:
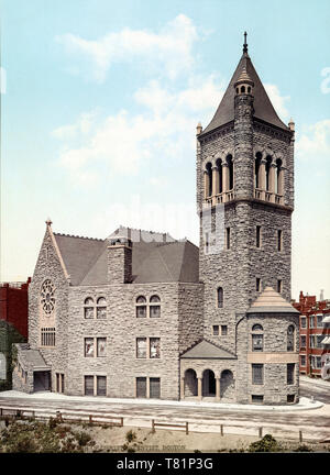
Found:
[{"label": "dark red brick building at left edge, behind the church", "polygon": [[11,389],[12,344],[28,340],[30,281],[0,285],[0,390]]}]

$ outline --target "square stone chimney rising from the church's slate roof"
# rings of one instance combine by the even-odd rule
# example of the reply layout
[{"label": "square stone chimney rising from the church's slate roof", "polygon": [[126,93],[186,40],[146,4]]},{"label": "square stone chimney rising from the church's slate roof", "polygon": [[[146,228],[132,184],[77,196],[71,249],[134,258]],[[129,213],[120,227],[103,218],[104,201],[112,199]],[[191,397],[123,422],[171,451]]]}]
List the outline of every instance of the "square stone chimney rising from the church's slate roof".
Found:
[{"label": "square stone chimney rising from the church's slate roof", "polygon": [[109,238],[108,283],[130,284],[132,281],[132,241],[128,236]]}]

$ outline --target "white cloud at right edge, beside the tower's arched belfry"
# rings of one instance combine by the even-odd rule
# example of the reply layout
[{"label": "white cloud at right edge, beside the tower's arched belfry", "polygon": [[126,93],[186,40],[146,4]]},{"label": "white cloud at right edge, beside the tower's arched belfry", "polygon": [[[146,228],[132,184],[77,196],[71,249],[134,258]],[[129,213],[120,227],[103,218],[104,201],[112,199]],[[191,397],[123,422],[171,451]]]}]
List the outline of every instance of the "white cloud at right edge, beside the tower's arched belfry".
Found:
[{"label": "white cloud at right edge, beside the tower's arched belfry", "polygon": [[305,128],[296,145],[301,158],[317,159],[330,155],[330,119]]}]

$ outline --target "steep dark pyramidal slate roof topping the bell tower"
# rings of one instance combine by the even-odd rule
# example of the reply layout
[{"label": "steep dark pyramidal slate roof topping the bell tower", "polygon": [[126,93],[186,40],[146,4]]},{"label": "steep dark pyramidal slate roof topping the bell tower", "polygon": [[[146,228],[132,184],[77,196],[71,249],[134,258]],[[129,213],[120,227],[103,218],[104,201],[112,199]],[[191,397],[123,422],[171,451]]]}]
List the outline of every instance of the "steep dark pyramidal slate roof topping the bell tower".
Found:
[{"label": "steep dark pyramidal slate roof topping the bell tower", "polygon": [[240,63],[238,64],[238,67],[231,78],[231,81],[223,95],[220,106],[218,107],[215,113],[213,119],[199,136],[202,136],[202,134],[210,132],[219,128],[220,125],[224,125],[226,123],[234,120],[234,95],[235,95],[234,84],[243,74],[244,69],[245,69],[245,74],[248,74],[250,79],[254,82],[254,88],[253,88],[254,117],[265,122],[268,122],[270,124],[289,131],[289,128],[284,122],[282,122],[282,120],[278,118],[267,96],[267,92],[265,91],[265,88],[263,87],[262,81],[260,80],[260,77],[257,76],[257,73],[254,69],[254,66],[252,64],[249,54],[243,53]]}]

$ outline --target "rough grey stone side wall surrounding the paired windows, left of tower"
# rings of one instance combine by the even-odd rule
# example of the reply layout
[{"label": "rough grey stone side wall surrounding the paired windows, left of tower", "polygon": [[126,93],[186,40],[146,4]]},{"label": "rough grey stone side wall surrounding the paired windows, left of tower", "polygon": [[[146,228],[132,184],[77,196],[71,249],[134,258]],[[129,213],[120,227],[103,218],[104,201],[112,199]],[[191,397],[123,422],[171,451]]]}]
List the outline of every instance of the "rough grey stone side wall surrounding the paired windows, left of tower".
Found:
[{"label": "rough grey stone side wall surrounding the paired windows, left of tower", "polygon": [[[185,285],[186,287],[186,285]],[[69,290],[68,320],[68,374],[66,393],[84,395],[84,376],[107,376],[107,396],[135,397],[136,377],[160,377],[161,398],[179,397],[179,347],[185,343],[185,331],[195,325],[189,294],[194,286],[187,285],[188,297],[180,297],[180,307],[188,309],[183,336],[178,332],[178,284],[127,284],[95,287],[72,287]],[[197,286],[197,291],[198,286]],[[200,292],[200,291],[199,291]],[[182,294],[183,289],[182,289]],[[146,300],[161,298],[160,318],[136,318],[135,301],[139,296]],[[108,303],[106,320],[84,318],[84,301],[105,297]],[[190,308],[190,310],[189,310]],[[189,313],[190,312],[190,313]],[[190,322],[189,322],[190,320]],[[197,328],[198,328],[197,318]],[[85,338],[107,338],[106,357],[86,357]],[[160,358],[136,358],[136,338],[160,338]],[[189,336],[191,338],[191,336]],[[189,343],[189,342],[188,342]]]}]

